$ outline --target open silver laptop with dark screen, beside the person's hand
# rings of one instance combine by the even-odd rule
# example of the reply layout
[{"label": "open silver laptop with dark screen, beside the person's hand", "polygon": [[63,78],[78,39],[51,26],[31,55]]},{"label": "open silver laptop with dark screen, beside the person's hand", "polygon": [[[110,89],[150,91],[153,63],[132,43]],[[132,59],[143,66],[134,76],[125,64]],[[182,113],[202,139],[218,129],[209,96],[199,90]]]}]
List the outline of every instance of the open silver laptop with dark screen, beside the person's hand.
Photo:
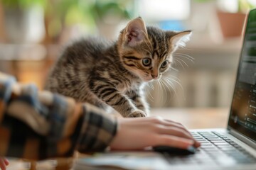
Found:
[{"label": "open silver laptop with dark screen, beside the person's hand", "polygon": [[228,127],[191,134],[201,142],[196,154],[110,152],[78,159],[74,169],[256,169],[256,9],[247,15]]}]

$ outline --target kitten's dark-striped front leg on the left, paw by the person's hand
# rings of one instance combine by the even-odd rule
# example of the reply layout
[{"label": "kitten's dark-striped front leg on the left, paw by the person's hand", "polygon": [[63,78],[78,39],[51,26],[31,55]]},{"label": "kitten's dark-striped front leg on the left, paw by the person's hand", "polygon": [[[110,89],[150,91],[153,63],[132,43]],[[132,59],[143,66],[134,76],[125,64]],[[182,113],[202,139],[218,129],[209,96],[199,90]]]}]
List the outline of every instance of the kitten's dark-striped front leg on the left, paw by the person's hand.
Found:
[{"label": "kitten's dark-striped front leg on the left, paw by the person's hand", "polygon": [[98,98],[112,106],[125,118],[146,117],[144,111],[139,110],[128,96],[121,94],[114,86],[100,85],[91,89]]}]

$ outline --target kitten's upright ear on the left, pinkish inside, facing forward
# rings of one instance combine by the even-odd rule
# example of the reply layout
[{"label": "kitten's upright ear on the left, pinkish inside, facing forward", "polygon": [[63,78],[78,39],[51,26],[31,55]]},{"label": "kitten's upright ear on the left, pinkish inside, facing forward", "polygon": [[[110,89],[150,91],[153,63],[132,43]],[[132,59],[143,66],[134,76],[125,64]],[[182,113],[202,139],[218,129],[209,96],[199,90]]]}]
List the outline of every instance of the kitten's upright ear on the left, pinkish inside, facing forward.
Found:
[{"label": "kitten's upright ear on the left, pinkish inside, facing forward", "polygon": [[135,18],[123,30],[124,42],[130,47],[138,45],[147,36],[146,26],[141,17]]}]

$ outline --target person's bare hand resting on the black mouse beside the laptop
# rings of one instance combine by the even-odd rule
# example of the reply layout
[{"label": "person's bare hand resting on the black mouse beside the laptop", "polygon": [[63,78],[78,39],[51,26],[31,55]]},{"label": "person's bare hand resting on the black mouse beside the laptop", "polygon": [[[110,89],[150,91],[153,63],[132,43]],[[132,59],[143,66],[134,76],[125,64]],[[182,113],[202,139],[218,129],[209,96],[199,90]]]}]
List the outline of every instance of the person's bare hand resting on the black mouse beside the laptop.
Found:
[{"label": "person's bare hand resting on the black mouse beside the laptop", "polygon": [[180,123],[160,117],[121,118],[119,130],[110,143],[111,149],[144,149],[145,147],[170,146],[186,149],[200,142]]}]

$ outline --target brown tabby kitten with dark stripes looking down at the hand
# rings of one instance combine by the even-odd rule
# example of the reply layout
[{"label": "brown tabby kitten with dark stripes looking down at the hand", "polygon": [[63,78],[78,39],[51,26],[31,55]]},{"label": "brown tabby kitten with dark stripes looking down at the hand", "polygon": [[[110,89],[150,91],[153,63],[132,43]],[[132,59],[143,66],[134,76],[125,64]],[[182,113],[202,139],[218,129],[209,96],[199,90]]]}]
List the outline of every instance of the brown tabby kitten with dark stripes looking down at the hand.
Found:
[{"label": "brown tabby kitten with dark stripes looking down at the hand", "polygon": [[66,47],[46,89],[100,108],[112,106],[123,117],[145,117],[144,84],[161,78],[171,67],[172,53],[190,35],[190,30],[146,27],[142,18],[135,18],[116,42],[91,38]]}]

